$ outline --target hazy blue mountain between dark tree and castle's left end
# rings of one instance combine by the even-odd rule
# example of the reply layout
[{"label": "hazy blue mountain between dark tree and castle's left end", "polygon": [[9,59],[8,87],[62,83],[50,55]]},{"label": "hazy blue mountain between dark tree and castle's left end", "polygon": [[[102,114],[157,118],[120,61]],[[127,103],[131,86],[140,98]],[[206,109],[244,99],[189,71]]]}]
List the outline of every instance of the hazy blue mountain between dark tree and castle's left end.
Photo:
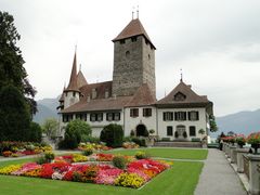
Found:
[{"label": "hazy blue mountain between dark tree and castle's left end", "polygon": [[38,112],[34,116],[34,121],[43,123],[47,118],[57,118],[58,98],[39,100],[37,104]]}]

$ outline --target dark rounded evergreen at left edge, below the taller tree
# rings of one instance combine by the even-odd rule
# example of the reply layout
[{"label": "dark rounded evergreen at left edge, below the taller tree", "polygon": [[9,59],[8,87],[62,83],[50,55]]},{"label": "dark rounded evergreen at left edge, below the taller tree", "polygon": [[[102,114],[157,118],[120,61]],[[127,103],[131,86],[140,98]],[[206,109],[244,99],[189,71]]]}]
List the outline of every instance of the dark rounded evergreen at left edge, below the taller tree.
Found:
[{"label": "dark rounded evergreen at left edge, below the taller tree", "polygon": [[29,141],[29,107],[21,91],[5,86],[0,100],[0,141]]}]

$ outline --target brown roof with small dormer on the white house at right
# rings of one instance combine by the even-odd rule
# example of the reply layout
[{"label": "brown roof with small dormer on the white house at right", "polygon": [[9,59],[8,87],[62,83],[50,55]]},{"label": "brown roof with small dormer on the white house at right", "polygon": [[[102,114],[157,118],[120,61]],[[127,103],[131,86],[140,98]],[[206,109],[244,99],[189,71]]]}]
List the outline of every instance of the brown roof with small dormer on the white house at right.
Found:
[{"label": "brown roof with small dormer on the white house at right", "polygon": [[207,96],[196,94],[191,86],[185,84],[182,80],[180,83],[164,99],[159,100],[156,105],[208,105],[212,104]]}]

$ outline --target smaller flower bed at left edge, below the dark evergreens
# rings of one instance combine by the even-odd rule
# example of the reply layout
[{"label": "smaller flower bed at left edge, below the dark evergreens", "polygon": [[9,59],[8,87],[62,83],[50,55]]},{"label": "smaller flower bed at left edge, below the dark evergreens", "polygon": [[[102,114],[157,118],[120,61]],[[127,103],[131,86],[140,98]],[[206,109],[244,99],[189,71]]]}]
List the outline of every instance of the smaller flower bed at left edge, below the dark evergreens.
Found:
[{"label": "smaller flower bed at left edge, below the dark evergreens", "polygon": [[52,151],[49,145],[30,142],[0,142],[0,155],[3,157],[20,157],[36,155]]}]

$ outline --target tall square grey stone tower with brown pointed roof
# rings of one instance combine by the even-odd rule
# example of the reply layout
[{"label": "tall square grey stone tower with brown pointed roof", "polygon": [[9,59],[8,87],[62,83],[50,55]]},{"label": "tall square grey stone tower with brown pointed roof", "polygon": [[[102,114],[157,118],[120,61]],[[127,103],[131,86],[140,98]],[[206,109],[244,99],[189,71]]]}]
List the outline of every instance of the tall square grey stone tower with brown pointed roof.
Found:
[{"label": "tall square grey stone tower with brown pointed roof", "polygon": [[132,95],[143,83],[147,83],[155,96],[156,48],[140,20],[132,20],[113,42],[113,94]]}]

